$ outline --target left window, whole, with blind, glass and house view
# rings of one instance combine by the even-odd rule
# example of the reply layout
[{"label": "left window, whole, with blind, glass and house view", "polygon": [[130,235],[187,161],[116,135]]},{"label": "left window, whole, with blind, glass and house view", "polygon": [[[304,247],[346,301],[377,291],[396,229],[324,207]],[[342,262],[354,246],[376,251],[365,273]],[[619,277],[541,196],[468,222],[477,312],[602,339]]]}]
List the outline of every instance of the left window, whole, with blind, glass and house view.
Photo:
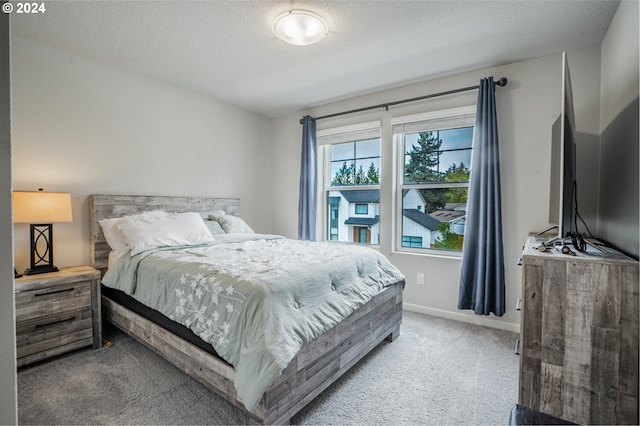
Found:
[{"label": "left window, whole, with blind, glass and house view", "polygon": [[317,132],[323,177],[319,221],[325,239],[378,245],[380,122]]}]

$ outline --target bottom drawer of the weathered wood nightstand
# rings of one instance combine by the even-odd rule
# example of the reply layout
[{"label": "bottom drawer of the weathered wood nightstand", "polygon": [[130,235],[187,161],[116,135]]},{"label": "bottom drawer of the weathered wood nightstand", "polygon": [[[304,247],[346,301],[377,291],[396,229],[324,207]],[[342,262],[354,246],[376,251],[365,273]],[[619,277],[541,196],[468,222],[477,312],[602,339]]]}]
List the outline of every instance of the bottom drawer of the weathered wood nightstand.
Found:
[{"label": "bottom drawer of the weathered wood nightstand", "polygon": [[90,345],[92,341],[91,309],[20,322],[16,325],[18,366]]}]

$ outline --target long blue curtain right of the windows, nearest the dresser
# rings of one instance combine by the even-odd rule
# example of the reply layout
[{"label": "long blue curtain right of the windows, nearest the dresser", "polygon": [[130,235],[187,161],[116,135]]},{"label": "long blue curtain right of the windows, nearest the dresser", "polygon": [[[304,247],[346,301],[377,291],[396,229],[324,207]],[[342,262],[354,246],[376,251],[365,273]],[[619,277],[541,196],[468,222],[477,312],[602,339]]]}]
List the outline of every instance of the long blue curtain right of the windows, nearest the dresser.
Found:
[{"label": "long blue curtain right of the windows, nearest the dresser", "polygon": [[493,77],[480,80],[458,309],[504,314],[500,152]]}]

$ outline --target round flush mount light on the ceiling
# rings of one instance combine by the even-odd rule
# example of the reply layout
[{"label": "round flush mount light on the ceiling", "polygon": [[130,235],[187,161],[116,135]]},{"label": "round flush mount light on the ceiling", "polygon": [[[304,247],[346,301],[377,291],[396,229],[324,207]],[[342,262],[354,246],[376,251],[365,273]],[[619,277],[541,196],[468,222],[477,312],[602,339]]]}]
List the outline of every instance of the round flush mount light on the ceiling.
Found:
[{"label": "round flush mount light on the ceiling", "polygon": [[307,10],[290,10],[279,15],[272,28],[280,40],[296,46],[317,43],[329,32],[324,19]]}]

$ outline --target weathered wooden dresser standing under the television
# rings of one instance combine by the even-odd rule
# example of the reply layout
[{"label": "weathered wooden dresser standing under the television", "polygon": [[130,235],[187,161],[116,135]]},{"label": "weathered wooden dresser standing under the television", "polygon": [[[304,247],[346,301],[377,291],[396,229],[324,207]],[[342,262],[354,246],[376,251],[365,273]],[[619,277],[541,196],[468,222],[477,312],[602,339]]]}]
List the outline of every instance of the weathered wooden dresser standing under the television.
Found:
[{"label": "weathered wooden dresser standing under the television", "polygon": [[518,403],[580,424],[638,424],[638,262],[523,253]]}]

